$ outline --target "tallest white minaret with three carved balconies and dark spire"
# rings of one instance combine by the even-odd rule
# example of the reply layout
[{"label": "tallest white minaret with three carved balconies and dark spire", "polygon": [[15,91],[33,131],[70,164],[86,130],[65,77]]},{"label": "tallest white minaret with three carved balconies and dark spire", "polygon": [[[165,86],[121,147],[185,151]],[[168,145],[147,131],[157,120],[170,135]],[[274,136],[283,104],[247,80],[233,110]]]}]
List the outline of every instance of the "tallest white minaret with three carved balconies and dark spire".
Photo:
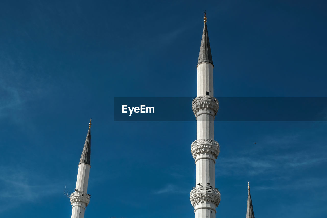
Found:
[{"label": "tallest white minaret with three carved balconies and dark spire", "polygon": [[191,153],[196,164],[196,185],[190,192],[190,201],[195,208],[195,218],[215,218],[216,208],[220,203],[220,192],[215,189],[215,161],[219,154],[219,144],[214,140],[214,120],[219,103],[213,97],[214,65],[205,12],[197,68],[198,97],[192,102],[197,119],[197,140],[191,145]]}]

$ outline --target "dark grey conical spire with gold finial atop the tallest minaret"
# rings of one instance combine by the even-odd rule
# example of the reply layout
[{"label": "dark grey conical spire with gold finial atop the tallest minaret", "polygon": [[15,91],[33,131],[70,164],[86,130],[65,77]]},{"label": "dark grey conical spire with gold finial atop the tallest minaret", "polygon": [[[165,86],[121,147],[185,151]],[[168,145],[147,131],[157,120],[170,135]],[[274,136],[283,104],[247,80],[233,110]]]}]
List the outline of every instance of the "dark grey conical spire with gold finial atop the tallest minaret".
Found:
[{"label": "dark grey conical spire with gold finial atop the tallest minaret", "polygon": [[202,33],[202,40],[201,40],[198,64],[200,64],[202,62],[208,62],[208,63],[213,64],[211,50],[210,50],[208,29],[207,29],[207,17],[206,17],[205,13],[204,13],[204,26],[203,26],[203,33]]}]

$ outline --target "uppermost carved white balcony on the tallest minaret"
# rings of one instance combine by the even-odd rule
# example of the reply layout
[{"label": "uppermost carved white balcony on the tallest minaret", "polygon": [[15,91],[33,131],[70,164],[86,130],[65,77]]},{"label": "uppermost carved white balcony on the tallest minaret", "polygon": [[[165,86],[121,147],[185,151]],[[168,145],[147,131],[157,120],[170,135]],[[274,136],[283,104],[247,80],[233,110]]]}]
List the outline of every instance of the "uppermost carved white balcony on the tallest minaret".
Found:
[{"label": "uppermost carved white balcony on the tallest minaret", "polygon": [[198,114],[212,114],[214,117],[217,115],[219,109],[219,102],[215,97],[203,95],[196,97],[192,101],[192,110],[195,117]]}]

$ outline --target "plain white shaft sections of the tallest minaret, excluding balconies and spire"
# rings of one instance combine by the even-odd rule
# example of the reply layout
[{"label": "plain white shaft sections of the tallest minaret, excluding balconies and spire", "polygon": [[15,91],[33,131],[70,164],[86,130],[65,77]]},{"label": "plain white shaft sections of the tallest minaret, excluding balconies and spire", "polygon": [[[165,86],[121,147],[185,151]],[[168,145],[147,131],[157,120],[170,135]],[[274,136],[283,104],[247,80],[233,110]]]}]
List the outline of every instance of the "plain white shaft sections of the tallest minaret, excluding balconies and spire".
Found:
[{"label": "plain white shaft sections of the tallest minaret, excluding balconies and spire", "polygon": [[[214,66],[203,62],[198,64],[198,97],[214,96]],[[200,114],[197,117],[197,139],[214,139],[214,113]],[[199,155],[196,163],[196,186],[200,184],[203,187],[212,186],[215,188],[215,157],[209,154]],[[208,185],[210,183],[210,185]],[[205,202],[198,205],[195,210],[195,218],[215,218],[215,205]]]}]

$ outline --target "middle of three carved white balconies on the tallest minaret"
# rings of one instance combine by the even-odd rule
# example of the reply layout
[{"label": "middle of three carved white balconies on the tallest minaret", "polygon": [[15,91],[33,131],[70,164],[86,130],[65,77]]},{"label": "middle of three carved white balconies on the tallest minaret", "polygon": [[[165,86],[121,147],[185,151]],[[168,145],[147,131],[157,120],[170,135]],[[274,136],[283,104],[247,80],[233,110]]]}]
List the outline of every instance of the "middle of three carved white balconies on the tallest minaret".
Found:
[{"label": "middle of three carved white balconies on the tallest minaret", "polygon": [[217,159],[219,155],[219,143],[213,139],[198,139],[191,145],[191,153],[196,160],[198,155],[209,154],[213,155],[213,160]]}]

